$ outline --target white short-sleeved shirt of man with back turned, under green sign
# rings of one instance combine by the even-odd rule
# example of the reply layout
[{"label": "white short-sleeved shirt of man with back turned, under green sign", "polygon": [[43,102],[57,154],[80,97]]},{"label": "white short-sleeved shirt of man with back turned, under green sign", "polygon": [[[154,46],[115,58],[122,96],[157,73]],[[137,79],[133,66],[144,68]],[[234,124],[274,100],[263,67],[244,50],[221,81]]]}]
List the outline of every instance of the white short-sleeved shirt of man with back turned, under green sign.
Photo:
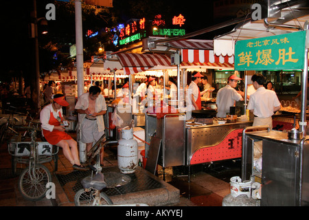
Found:
[{"label": "white short-sleeved shirt of man with back turned, under green sign", "polygon": [[253,110],[253,114],[260,118],[269,118],[273,115],[273,108],[278,106],[280,102],[275,91],[260,87],[250,96],[247,109]]}]

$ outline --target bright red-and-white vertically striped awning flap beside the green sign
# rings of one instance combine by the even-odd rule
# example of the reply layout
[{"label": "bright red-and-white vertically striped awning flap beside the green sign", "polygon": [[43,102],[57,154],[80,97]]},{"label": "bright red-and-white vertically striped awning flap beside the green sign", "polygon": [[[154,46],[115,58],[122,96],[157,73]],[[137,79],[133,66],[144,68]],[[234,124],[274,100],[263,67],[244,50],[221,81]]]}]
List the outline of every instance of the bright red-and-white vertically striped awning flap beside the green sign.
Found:
[{"label": "bright red-and-white vertically striped awning flap beside the green sign", "polygon": [[234,56],[216,56],[214,50],[181,50],[181,67],[233,68]]}]

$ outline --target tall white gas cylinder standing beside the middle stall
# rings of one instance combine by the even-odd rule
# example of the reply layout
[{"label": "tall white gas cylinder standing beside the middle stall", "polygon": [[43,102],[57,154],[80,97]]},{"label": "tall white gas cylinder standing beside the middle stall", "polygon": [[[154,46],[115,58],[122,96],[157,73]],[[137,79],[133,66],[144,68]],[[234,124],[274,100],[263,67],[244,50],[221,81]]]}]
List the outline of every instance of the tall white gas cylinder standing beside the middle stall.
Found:
[{"label": "tall white gas cylinder standing beside the middle stall", "polygon": [[133,139],[133,129],[122,129],[122,138],[118,142],[117,159],[121,173],[134,173],[138,166],[137,141]]}]

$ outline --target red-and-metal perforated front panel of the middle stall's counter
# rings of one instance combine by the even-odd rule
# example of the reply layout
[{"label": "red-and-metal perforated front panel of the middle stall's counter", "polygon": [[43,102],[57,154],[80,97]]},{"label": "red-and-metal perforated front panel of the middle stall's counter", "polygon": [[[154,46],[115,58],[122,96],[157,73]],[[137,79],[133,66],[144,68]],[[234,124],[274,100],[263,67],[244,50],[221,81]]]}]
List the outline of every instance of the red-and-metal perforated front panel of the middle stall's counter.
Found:
[{"label": "red-and-metal perforated front panel of the middle stall's counter", "polygon": [[185,129],[185,164],[203,164],[242,157],[242,130],[251,121],[192,126]]}]

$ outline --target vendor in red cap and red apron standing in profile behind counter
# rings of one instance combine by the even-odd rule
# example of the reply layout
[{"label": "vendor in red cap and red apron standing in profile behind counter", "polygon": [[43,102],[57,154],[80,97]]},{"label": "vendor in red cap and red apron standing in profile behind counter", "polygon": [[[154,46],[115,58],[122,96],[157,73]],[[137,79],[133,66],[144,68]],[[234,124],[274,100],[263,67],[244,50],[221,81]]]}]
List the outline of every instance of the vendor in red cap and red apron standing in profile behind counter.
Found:
[{"label": "vendor in red cap and red apron standing in profile behind counter", "polygon": [[201,83],[201,78],[204,76],[200,72],[194,71],[192,74],[192,81],[187,89],[187,111],[201,110],[202,101],[198,83]]}]

